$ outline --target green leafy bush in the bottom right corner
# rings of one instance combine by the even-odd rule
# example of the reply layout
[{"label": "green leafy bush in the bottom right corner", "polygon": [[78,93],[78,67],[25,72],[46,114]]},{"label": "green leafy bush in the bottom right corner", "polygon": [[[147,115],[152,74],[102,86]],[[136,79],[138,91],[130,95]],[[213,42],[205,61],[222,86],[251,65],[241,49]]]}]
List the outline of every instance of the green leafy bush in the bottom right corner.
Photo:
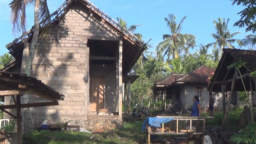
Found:
[{"label": "green leafy bush in the bottom right corner", "polygon": [[236,144],[256,144],[256,124],[250,124],[239,134],[231,136],[230,141]]}]

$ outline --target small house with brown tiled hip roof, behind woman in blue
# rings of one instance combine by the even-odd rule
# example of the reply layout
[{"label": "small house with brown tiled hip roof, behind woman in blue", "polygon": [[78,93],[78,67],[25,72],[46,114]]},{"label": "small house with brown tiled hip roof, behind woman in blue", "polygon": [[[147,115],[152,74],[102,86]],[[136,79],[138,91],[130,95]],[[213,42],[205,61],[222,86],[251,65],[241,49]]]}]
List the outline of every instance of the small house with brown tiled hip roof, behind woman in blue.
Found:
[{"label": "small house with brown tiled hip roof, behind woman in blue", "polygon": [[[198,95],[202,110],[207,110],[209,106],[209,92],[206,79],[212,72],[215,72],[213,68],[201,66],[188,74],[172,74],[166,79],[156,82],[152,89],[155,93],[162,92],[162,95],[166,97],[165,102],[166,99],[172,99],[172,102],[180,100],[184,110],[192,108],[193,97]],[[214,96],[214,101],[214,110],[222,109],[221,96]]]}]

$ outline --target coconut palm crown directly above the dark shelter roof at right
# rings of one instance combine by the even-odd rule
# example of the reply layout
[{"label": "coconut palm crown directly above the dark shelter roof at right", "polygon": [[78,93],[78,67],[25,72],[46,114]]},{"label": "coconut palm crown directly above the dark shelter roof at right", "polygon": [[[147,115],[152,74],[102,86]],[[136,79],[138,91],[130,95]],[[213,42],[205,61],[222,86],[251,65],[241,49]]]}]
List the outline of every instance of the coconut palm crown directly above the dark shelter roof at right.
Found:
[{"label": "coconut palm crown directly above the dark shelter roof at right", "polygon": [[[212,21],[214,23],[214,27],[216,29],[216,34],[212,33],[211,36],[216,40],[215,42],[212,42],[210,44],[207,44],[205,47],[213,47],[213,49],[218,49],[222,53],[223,48],[235,48],[232,44],[234,42],[238,42],[236,39],[232,39],[234,36],[237,34],[240,34],[240,32],[234,32],[230,33],[228,30],[228,22],[229,18],[226,19],[224,18],[223,21],[219,17],[218,22],[216,20]],[[217,52],[217,50],[215,50]]]}]

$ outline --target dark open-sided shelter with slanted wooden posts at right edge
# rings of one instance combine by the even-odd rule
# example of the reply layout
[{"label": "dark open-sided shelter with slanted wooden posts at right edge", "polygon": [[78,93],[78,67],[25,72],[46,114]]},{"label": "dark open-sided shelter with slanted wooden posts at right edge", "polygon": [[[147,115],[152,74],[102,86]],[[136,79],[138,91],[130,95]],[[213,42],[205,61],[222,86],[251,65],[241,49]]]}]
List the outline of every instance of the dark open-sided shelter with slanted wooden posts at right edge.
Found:
[{"label": "dark open-sided shelter with slanted wooden posts at right edge", "polygon": [[[216,71],[212,77],[212,81],[208,87],[209,91],[212,92],[222,92],[222,100],[225,102],[225,92],[232,92],[230,94],[230,100],[236,101],[234,92],[237,91],[255,91],[256,89],[256,79],[249,76],[251,72],[256,70],[256,51],[255,50],[241,50],[241,49],[223,49],[222,57]],[[227,67],[242,61],[244,65],[241,68],[231,68]],[[239,72],[238,72],[239,70]],[[241,75],[240,75],[241,74]],[[243,86],[244,83],[244,86]],[[244,89],[245,88],[245,89]],[[256,96],[253,95],[252,104],[256,105]],[[226,111],[226,105],[223,103],[223,112]]]}]

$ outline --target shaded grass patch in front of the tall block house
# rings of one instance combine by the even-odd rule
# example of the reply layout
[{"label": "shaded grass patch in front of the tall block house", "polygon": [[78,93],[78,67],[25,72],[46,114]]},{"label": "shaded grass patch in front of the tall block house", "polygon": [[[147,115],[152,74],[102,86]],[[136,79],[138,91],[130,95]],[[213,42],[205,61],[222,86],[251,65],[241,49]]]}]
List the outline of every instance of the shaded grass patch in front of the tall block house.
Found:
[{"label": "shaded grass patch in front of the tall block house", "polygon": [[122,128],[113,132],[52,132],[49,130],[33,131],[26,134],[23,144],[137,144],[146,141],[146,134],[141,131],[143,120],[126,122]]}]

